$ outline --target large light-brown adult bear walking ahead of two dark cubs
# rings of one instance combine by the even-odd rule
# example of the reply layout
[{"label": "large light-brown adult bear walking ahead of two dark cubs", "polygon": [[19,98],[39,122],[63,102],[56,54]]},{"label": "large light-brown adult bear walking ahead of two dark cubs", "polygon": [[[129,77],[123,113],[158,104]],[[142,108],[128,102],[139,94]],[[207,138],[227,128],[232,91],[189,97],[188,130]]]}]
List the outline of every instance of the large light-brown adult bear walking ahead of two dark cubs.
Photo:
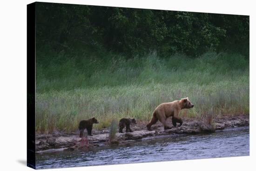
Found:
[{"label": "large light-brown adult bear walking ahead of two dark cubs", "polygon": [[182,125],[182,119],[179,117],[179,112],[182,109],[189,109],[194,107],[194,105],[190,102],[189,98],[184,98],[180,100],[175,100],[169,103],[162,103],[155,108],[153,112],[153,116],[150,122],[147,125],[148,131],[151,131],[151,125],[155,124],[157,120],[162,122],[164,129],[171,129],[168,127],[166,123],[166,119],[172,116],[172,124],[176,126],[177,122],[180,123],[179,126]]}]

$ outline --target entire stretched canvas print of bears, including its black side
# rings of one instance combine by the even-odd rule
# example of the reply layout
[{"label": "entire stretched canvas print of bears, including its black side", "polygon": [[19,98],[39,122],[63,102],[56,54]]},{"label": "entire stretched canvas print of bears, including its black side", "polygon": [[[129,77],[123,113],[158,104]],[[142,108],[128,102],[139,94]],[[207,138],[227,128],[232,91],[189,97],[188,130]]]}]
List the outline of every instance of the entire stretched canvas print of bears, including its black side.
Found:
[{"label": "entire stretched canvas print of bears, including its black side", "polygon": [[27,166],[249,155],[249,16],[27,5]]}]

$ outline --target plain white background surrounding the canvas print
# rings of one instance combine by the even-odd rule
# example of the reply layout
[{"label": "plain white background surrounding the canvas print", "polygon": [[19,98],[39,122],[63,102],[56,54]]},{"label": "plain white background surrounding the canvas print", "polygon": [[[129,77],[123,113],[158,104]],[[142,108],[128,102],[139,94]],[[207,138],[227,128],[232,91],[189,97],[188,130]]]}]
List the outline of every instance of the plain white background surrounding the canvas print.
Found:
[{"label": "plain white background surrounding the canvas print", "polygon": [[[32,0],[0,1],[0,170],[32,170],[27,159],[27,4]],[[167,9],[176,11],[250,15],[250,156],[118,164],[52,171],[133,170],[252,170],[256,161],[255,130],[255,23],[253,0],[45,0],[72,4]],[[253,44],[254,43],[254,44]],[[253,49],[254,48],[254,49]],[[254,52],[253,52],[254,51]],[[254,66],[254,67],[253,67]],[[171,154],[170,154],[171,155]]]}]

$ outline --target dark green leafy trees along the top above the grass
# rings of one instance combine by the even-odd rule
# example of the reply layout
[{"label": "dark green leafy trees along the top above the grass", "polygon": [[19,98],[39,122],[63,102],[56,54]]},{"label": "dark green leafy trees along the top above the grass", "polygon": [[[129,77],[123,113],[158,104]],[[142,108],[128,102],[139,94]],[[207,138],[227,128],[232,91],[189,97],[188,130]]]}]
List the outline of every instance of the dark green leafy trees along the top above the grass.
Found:
[{"label": "dark green leafy trees along the top above the grass", "polygon": [[242,15],[37,3],[36,28],[38,51],[107,49],[131,57],[232,50],[249,56],[249,16]]}]

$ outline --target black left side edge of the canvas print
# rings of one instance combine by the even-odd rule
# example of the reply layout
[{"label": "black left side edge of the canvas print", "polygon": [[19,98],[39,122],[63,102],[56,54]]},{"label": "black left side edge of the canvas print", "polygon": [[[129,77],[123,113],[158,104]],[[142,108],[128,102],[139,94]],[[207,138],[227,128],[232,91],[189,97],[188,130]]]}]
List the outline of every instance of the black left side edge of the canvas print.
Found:
[{"label": "black left side edge of the canvas print", "polygon": [[35,5],[27,5],[27,166],[35,164]]}]

